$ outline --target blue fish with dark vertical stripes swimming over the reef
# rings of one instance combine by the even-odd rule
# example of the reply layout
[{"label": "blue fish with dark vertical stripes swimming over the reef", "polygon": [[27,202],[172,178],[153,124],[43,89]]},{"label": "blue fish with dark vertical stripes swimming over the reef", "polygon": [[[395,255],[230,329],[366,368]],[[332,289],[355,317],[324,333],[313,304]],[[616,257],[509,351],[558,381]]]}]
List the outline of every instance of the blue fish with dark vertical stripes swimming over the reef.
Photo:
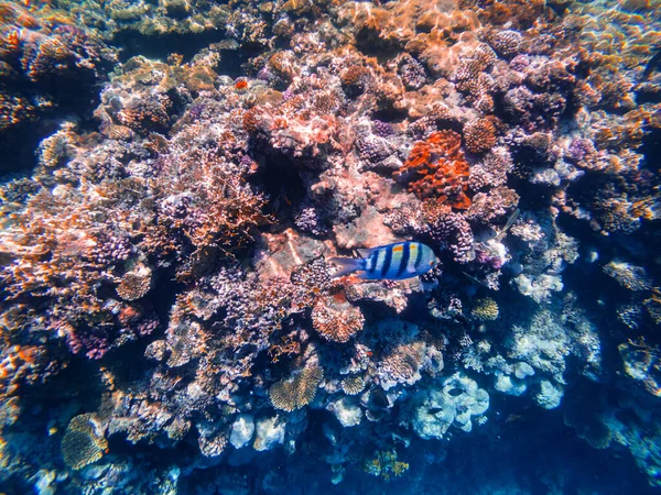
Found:
[{"label": "blue fish with dark vertical stripes swimming over the reef", "polygon": [[370,250],[358,250],[361,257],[333,257],[339,266],[336,277],[358,272],[358,278],[370,280],[403,280],[416,277],[434,267],[438,260],[427,245],[420,242],[398,242]]}]

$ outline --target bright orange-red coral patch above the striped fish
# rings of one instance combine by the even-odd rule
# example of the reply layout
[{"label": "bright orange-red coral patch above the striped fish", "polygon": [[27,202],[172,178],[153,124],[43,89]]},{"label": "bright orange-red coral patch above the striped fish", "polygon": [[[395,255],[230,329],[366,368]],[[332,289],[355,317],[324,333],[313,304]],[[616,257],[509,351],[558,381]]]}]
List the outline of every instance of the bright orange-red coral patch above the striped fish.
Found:
[{"label": "bright orange-red coral patch above the striped fish", "polygon": [[419,141],[394,178],[408,184],[420,199],[438,200],[464,210],[470,206],[468,163],[460,151],[462,139],[454,131],[433,132]]}]

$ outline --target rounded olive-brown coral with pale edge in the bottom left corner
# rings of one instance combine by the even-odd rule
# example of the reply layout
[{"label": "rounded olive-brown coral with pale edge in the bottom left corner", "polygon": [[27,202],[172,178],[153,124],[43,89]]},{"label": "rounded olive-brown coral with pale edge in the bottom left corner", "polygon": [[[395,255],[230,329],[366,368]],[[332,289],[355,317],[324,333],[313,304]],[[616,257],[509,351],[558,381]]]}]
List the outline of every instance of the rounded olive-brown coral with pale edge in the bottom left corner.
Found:
[{"label": "rounded olive-brown coral with pale edge in the bottom left corner", "polygon": [[73,470],[98,461],[108,449],[98,418],[94,414],[75,416],[62,439],[62,457]]}]

